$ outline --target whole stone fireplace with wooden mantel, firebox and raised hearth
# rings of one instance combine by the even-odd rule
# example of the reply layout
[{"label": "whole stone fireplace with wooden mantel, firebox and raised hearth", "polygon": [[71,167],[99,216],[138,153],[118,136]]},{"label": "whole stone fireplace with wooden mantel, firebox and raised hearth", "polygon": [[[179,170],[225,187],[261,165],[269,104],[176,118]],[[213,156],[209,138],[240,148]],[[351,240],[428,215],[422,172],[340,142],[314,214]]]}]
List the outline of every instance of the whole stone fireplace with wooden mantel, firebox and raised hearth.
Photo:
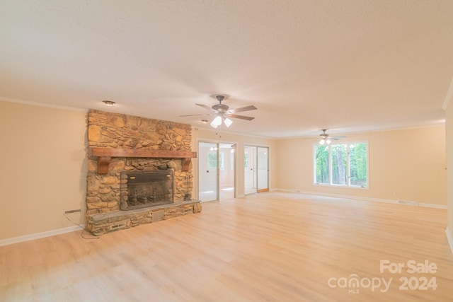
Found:
[{"label": "whole stone fireplace with wooden mantel, firebox and raised hearth", "polygon": [[191,146],[188,124],[90,110],[86,229],[101,235],[200,212],[190,199]]}]

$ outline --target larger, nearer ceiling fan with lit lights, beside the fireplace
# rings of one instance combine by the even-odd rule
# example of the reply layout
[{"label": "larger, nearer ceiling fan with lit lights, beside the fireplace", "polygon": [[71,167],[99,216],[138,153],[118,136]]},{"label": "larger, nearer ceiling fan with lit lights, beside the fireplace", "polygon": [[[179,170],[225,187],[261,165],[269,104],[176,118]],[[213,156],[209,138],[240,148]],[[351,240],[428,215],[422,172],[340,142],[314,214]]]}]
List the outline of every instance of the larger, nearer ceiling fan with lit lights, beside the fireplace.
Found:
[{"label": "larger, nearer ceiling fan with lit lights, beside the fireplace", "polygon": [[[225,95],[216,95],[215,98],[219,101],[218,104],[213,105],[212,107],[209,107],[207,105],[203,104],[195,104],[197,106],[200,106],[202,108],[205,108],[207,110],[211,110],[212,112],[210,114],[201,114],[201,115],[214,115],[214,120],[211,122],[211,126],[214,128],[217,128],[222,124],[222,122],[226,125],[226,127],[230,127],[231,124],[233,124],[233,121],[230,120],[230,117],[235,118],[235,119],[241,119],[241,120],[248,120],[251,121],[255,117],[247,117],[245,115],[236,115],[237,112],[244,112],[244,111],[250,111],[250,110],[256,110],[256,108],[253,105],[246,106],[246,107],[241,107],[241,108],[236,108],[236,109],[229,109],[228,105],[222,104],[222,101],[225,98]],[[193,117],[196,115],[180,115],[180,117]]]}]

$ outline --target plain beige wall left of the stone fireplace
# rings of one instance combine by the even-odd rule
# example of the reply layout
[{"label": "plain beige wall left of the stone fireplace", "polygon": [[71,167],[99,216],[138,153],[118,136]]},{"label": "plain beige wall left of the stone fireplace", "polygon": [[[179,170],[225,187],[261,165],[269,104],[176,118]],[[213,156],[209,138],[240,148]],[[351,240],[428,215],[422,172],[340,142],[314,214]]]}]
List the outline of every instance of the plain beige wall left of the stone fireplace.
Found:
[{"label": "plain beige wall left of the stone fireplace", "polygon": [[84,223],[86,112],[0,101],[0,240]]}]

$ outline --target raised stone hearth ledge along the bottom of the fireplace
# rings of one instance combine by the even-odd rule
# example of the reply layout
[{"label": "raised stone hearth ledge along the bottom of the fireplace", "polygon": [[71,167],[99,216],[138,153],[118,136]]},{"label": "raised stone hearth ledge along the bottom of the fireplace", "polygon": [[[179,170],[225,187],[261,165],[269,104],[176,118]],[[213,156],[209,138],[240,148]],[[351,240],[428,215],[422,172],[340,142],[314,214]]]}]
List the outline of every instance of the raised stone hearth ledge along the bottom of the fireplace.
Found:
[{"label": "raised stone hearth ledge along the bottom of the fireplace", "polygon": [[88,216],[86,230],[95,236],[103,235],[122,228],[132,228],[144,223],[151,223],[178,216],[195,214],[201,211],[200,200],[192,199],[171,204],[162,204],[142,209],[110,211]]}]

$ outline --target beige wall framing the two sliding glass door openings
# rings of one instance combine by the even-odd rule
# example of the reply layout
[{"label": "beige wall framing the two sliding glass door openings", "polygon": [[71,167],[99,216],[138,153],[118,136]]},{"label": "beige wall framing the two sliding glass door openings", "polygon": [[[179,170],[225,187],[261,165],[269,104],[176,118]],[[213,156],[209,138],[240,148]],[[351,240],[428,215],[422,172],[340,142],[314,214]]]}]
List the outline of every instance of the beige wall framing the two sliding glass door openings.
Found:
[{"label": "beige wall framing the two sliding glass door openings", "polygon": [[[242,197],[244,194],[244,179],[243,179],[243,146],[244,145],[256,145],[256,146],[268,146],[270,153],[270,180],[269,187],[272,189],[275,187],[276,174],[273,172],[277,170],[276,157],[273,156],[275,152],[275,139],[266,139],[263,137],[251,137],[240,134],[228,134],[220,133],[219,131],[207,130],[207,129],[198,129],[193,127],[192,129],[192,150],[197,151],[197,142],[198,141],[212,141],[226,144],[237,144],[236,145],[236,196]],[[197,158],[193,159],[193,175],[194,190],[197,190]],[[193,192],[193,197],[196,197],[196,192]]]}]

